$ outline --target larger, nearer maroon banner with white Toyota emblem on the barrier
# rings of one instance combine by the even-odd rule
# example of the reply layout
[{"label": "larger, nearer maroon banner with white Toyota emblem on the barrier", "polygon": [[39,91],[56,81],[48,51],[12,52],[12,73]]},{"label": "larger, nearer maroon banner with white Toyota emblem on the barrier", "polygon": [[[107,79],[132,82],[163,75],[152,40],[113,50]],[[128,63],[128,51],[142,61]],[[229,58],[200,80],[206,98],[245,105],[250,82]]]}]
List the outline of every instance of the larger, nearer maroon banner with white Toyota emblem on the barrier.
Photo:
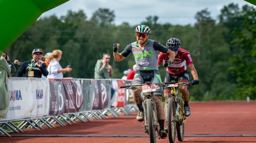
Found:
[{"label": "larger, nearer maroon banner with white Toyota emblem on the barrier", "polygon": [[62,90],[66,95],[65,100],[65,113],[77,112],[83,103],[83,94],[80,80],[64,78],[62,79]]}]

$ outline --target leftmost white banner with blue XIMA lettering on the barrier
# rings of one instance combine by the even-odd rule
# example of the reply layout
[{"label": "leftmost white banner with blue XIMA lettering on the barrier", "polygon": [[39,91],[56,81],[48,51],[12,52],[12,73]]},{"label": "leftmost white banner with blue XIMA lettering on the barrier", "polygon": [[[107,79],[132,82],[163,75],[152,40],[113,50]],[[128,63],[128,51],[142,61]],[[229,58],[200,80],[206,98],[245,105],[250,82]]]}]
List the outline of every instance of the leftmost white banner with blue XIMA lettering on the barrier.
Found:
[{"label": "leftmost white banner with blue XIMA lettering on the barrier", "polygon": [[6,120],[30,117],[35,106],[30,80],[28,78],[10,78],[8,87],[11,96]]}]

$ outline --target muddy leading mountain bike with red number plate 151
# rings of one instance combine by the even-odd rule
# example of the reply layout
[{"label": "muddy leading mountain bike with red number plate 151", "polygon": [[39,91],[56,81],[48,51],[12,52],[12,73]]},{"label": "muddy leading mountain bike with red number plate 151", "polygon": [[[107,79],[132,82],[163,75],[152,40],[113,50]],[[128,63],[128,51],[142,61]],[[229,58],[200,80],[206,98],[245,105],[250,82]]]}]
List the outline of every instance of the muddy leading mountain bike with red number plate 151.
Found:
[{"label": "muddy leading mountain bike with red number plate 151", "polygon": [[[156,131],[158,134],[158,138],[160,139],[159,131],[158,131],[158,119],[156,114],[156,102],[155,95],[153,94],[156,91],[156,88],[160,88],[164,86],[168,82],[164,83],[150,83],[145,82],[144,84],[139,85],[127,85],[121,86],[120,88],[141,88],[142,89],[142,97],[143,97],[143,109],[144,109],[144,132],[148,133],[150,143],[156,143]],[[170,82],[171,84],[172,82]]]}]

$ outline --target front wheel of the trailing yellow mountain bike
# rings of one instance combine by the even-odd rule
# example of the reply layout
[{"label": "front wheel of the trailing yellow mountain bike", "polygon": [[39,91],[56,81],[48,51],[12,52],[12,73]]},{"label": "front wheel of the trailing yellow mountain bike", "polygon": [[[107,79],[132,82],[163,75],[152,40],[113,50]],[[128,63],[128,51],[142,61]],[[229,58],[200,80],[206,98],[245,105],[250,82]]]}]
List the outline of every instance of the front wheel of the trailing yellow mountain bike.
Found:
[{"label": "front wheel of the trailing yellow mountain bike", "polygon": [[168,106],[167,106],[167,126],[168,126],[168,138],[170,143],[175,142],[176,137],[176,122],[174,120],[175,117],[175,99],[169,98],[168,99]]}]

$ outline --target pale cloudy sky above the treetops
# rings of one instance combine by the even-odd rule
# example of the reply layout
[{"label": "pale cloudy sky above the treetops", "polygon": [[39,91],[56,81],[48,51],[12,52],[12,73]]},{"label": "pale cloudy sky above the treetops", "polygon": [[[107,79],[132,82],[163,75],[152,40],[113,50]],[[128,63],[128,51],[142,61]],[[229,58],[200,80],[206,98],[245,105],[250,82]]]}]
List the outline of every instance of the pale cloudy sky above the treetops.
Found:
[{"label": "pale cloudy sky above the treetops", "polygon": [[87,20],[92,13],[99,8],[108,8],[116,15],[114,23],[120,25],[128,22],[131,26],[140,24],[148,16],[158,16],[158,23],[170,23],[172,25],[195,24],[196,12],[207,8],[211,12],[212,19],[217,19],[220,10],[228,4],[238,4],[239,8],[250,4],[244,0],[69,0],[52,10],[44,12],[40,18],[53,14],[60,17],[66,15],[68,10],[77,12],[83,10]]}]

